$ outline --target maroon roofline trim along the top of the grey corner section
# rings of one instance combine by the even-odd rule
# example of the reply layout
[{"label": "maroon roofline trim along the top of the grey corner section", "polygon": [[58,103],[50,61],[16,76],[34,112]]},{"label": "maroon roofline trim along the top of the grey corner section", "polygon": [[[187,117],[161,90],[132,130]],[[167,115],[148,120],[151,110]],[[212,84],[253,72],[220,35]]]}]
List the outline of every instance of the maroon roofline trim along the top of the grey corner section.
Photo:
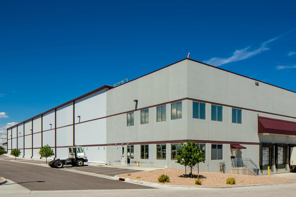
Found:
[{"label": "maroon roofline trim along the top of the grey corner section", "polygon": [[[219,68],[219,67],[212,66],[212,65],[210,65],[210,64],[206,64],[206,63],[203,63],[203,62],[200,62],[200,61],[197,61],[197,60],[193,60],[193,59],[190,59],[190,58],[182,59],[182,60],[177,61],[177,62],[175,62],[175,63],[173,63],[173,64],[170,64],[170,65],[168,65],[168,66],[162,67],[162,68],[157,69],[157,70],[152,71],[152,72],[149,72],[148,74],[145,74],[145,75],[139,76],[139,77],[137,77],[136,79],[139,79],[139,78],[141,78],[141,77],[143,77],[143,76],[146,76],[146,75],[152,74],[152,73],[154,73],[154,72],[156,72],[156,71],[159,71],[159,70],[161,70],[161,69],[165,69],[165,68],[167,68],[167,67],[169,67],[169,66],[172,66],[172,65],[174,65],[174,64],[177,64],[177,63],[179,63],[179,62],[181,62],[181,61],[184,61],[184,60],[194,61],[194,62],[197,62],[197,63],[200,63],[200,64],[204,64],[204,65],[207,65],[207,66],[210,66],[210,67],[213,67],[213,68],[216,68],[216,69],[222,70],[222,71],[226,71],[226,72],[229,72],[229,73],[232,73],[232,74],[236,74],[236,75],[239,75],[239,76],[243,76],[243,77],[246,77],[246,78],[248,78],[248,79],[252,79],[252,80],[257,81],[257,82],[260,82],[260,83],[268,84],[268,85],[271,85],[271,86],[274,86],[274,87],[278,87],[278,88],[280,88],[280,89],[287,90],[287,91],[289,91],[289,92],[296,93],[296,92],[294,92],[294,91],[292,91],[292,90],[289,90],[289,89],[285,89],[285,88],[282,88],[282,87],[279,87],[279,86],[276,86],[276,85],[273,85],[273,84],[269,84],[269,83],[266,83],[266,82],[263,82],[263,81],[260,81],[260,80],[257,80],[257,79],[253,79],[253,78],[248,77],[248,76],[244,76],[244,75],[241,75],[241,74],[237,74],[237,73],[235,73],[235,72],[231,72],[231,71],[228,71],[228,70],[225,70],[225,69],[221,69],[221,68]],[[132,82],[132,81],[134,81],[134,80],[136,80],[136,79],[133,79],[133,80],[128,81],[128,82]],[[124,84],[126,84],[126,83],[128,83],[128,82],[125,82]],[[120,85],[118,85],[118,86],[121,86],[121,85],[124,85],[124,84],[120,84]],[[116,86],[116,87],[118,87],[118,86]],[[112,87],[112,88],[110,88],[110,89],[113,89],[113,88],[116,88],[116,87]],[[108,89],[108,90],[109,90],[109,89]],[[107,90],[107,91],[108,91],[108,90]]]}]

